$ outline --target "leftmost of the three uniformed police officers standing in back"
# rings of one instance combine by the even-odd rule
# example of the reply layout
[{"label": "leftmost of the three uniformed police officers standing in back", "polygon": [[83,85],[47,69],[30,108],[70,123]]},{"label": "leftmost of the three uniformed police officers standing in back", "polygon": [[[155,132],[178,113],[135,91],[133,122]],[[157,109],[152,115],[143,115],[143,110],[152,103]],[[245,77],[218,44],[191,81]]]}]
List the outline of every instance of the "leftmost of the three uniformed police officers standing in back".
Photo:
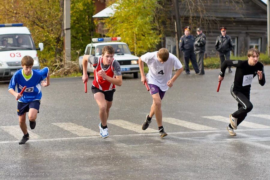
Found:
[{"label": "leftmost of the three uniformed police officers standing in back", "polygon": [[179,48],[184,53],[185,71],[186,71],[187,74],[190,74],[190,70],[189,70],[189,67],[188,67],[189,59],[190,59],[196,74],[198,74],[200,71],[199,71],[199,68],[198,68],[196,55],[195,55],[195,52],[194,52],[195,38],[193,37],[193,35],[190,35],[190,27],[189,26],[184,27],[184,34],[185,35],[183,35],[180,38]]}]

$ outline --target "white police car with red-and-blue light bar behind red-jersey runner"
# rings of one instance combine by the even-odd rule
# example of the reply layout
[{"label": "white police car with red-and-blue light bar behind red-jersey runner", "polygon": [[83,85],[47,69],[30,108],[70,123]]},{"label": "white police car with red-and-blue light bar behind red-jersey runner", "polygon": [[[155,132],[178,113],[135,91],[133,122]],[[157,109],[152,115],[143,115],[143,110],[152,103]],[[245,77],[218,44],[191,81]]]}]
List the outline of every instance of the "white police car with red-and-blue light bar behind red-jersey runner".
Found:
[{"label": "white police car with red-and-blue light bar behind red-jersey runner", "polygon": [[[138,60],[139,57],[132,55],[128,45],[119,42],[120,37],[113,38],[92,38],[92,43],[88,44],[85,48],[85,55],[94,55],[100,57],[102,55],[102,48],[104,46],[113,46],[114,58],[119,62],[122,74],[133,74],[134,78],[138,78],[140,71]],[[82,71],[82,56],[79,57],[79,68]],[[87,74],[94,72],[92,64],[87,65]]]}]

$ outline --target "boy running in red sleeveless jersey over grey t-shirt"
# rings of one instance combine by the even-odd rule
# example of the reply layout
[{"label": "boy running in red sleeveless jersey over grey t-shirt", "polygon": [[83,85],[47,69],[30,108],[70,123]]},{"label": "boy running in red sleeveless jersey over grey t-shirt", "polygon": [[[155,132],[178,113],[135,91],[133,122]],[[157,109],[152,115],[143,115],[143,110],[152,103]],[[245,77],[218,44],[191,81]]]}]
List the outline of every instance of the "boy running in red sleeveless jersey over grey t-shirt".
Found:
[{"label": "boy running in red sleeveless jersey over grey t-shirt", "polygon": [[109,137],[107,128],[107,119],[109,117],[110,107],[113,104],[113,93],[115,85],[122,85],[122,73],[120,64],[114,58],[114,49],[112,46],[104,46],[102,56],[84,55],[82,58],[82,81],[88,82],[87,64],[93,65],[94,81],[91,87],[94,98],[99,106],[99,117],[101,123],[98,125],[102,138]]}]

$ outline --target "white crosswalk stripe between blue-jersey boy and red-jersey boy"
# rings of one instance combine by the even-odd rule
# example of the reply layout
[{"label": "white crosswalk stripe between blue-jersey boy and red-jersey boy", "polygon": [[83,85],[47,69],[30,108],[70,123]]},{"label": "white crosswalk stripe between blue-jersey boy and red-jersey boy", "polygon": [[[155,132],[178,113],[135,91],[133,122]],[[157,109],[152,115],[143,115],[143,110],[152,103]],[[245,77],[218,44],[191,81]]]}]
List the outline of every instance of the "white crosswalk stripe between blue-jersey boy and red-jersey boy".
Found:
[{"label": "white crosswalk stripe between blue-jersey boy and red-jersey boy", "polygon": [[100,134],[96,131],[93,131],[88,128],[84,128],[83,126],[76,125],[72,122],[60,122],[60,123],[52,123],[66,131],[69,131],[78,136],[99,136]]}]

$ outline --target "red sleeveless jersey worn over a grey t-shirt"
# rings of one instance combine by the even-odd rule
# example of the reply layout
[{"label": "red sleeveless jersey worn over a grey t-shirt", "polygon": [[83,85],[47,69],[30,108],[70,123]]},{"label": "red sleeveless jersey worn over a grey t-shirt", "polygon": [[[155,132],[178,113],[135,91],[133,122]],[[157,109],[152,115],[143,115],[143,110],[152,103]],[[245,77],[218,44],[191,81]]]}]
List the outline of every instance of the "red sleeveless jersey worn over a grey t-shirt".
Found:
[{"label": "red sleeveless jersey worn over a grey t-shirt", "polygon": [[[104,70],[107,76],[110,76],[112,78],[116,78],[115,74],[113,73],[113,62],[114,61],[115,61],[115,59],[113,59],[110,66],[104,70],[101,67],[101,63],[103,62],[103,58],[102,57],[98,58],[98,64],[94,70],[93,86],[95,86],[96,88],[99,88],[101,91],[110,91],[112,89],[115,89],[115,85],[113,83],[107,81],[106,79],[103,79],[101,76],[98,76],[98,71]],[[94,64],[93,64],[93,66],[94,66]]]}]

